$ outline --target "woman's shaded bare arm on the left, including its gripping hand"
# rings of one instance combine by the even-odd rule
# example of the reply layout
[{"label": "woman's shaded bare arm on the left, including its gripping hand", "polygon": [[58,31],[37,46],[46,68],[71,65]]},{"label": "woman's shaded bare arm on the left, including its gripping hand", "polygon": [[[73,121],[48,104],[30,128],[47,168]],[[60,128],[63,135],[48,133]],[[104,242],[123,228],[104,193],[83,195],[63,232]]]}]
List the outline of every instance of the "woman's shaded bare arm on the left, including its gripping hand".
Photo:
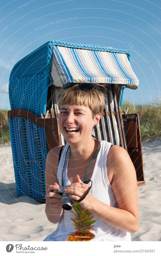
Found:
[{"label": "woman's shaded bare arm on the left, including its gripping hand", "polygon": [[61,199],[62,196],[53,193],[52,190],[58,190],[58,179],[54,169],[58,166],[58,154],[60,147],[53,148],[47,154],[46,169],[45,169],[45,183],[46,183],[46,208],[45,213],[47,219],[51,223],[57,223],[62,219],[63,210]]}]

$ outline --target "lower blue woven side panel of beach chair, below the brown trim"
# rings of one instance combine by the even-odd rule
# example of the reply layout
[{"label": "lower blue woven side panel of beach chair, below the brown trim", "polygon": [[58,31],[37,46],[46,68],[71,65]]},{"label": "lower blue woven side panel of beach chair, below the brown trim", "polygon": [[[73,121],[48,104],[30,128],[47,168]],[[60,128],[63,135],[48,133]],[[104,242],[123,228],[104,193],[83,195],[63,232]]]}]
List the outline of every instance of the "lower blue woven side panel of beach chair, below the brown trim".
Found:
[{"label": "lower blue woven side panel of beach chair, below the brown trim", "polygon": [[17,195],[44,200],[47,146],[45,128],[23,117],[8,118]]}]

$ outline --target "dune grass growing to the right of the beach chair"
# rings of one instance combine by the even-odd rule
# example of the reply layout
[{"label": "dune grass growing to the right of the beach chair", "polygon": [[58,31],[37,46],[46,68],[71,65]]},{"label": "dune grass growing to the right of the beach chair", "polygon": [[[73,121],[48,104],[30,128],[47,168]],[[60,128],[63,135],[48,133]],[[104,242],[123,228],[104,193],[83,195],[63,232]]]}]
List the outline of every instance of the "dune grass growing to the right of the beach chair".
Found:
[{"label": "dune grass growing to the right of the beach chair", "polygon": [[142,141],[152,141],[153,139],[161,136],[160,102],[134,106],[131,102],[124,101],[121,109],[126,110],[128,107],[128,114],[139,114]]}]

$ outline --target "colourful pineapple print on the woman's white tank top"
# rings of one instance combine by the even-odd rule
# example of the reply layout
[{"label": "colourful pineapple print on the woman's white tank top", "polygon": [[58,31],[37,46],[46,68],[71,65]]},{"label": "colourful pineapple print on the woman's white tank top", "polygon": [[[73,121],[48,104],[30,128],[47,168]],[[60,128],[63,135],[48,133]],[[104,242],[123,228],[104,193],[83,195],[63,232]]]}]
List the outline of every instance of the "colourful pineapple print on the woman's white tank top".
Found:
[{"label": "colourful pineapple print on the woman's white tank top", "polygon": [[74,235],[69,235],[67,241],[90,241],[95,237],[95,235],[90,233],[90,230],[94,230],[94,225],[92,224],[96,222],[96,220],[92,220],[94,217],[93,213],[90,213],[89,210],[82,208],[77,202],[73,206],[73,209],[75,212],[72,210],[71,212],[74,214],[75,218],[71,218],[71,220],[74,222],[73,224],[76,231]]}]

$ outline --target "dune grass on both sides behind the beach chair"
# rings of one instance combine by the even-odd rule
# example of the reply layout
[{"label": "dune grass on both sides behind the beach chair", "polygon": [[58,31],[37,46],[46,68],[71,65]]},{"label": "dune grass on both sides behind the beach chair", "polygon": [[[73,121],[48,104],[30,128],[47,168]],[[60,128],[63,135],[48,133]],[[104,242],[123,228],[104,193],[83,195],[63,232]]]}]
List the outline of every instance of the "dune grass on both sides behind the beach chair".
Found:
[{"label": "dune grass on both sides behind the beach chair", "polygon": [[[121,109],[127,108],[129,108],[128,114],[139,114],[142,141],[151,141],[161,136],[161,102],[134,105],[123,101]],[[8,110],[0,109],[0,144],[9,141]]]}]

